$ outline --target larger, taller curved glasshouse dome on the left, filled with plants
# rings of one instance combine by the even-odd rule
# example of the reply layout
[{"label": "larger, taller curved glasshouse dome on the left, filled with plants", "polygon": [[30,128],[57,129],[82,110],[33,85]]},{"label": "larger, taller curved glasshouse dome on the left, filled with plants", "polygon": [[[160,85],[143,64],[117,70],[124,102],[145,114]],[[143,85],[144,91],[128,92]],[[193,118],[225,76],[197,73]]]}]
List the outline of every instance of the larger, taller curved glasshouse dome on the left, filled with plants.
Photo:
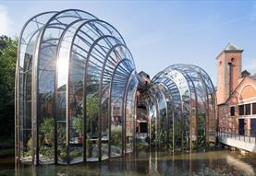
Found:
[{"label": "larger, taller curved glasshouse dome on the left, filled with plants", "polygon": [[16,83],[20,160],[69,164],[133,149],[136,70],[107,22],[76,9],[30,18]]}]

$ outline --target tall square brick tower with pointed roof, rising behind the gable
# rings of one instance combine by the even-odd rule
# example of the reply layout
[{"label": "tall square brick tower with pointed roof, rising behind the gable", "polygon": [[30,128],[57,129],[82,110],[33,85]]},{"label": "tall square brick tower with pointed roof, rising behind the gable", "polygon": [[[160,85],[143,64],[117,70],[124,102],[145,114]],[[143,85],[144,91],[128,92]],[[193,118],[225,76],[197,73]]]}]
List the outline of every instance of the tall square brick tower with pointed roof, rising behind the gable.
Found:
[{"label": "tall square brick tower with pointed roof, rising behind the gable", "polygon": [[237,88],[241,78],[243,50],[228,43],[225,49],[216,57],[217,60],[217,104],[224,103],[231,92]]}]

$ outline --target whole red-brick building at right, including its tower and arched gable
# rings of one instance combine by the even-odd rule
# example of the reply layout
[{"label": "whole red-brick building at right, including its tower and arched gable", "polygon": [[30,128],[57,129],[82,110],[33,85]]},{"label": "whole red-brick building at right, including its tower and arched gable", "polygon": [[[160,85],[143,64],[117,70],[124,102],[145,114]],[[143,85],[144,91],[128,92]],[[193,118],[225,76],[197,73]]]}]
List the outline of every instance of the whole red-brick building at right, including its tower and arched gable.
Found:
[{"label": "whole red-brick building at right, including its tower and arched gable", "polygon": [[256,75],[241,72],[242,53],[243,50],[228,43],[216,57],[219,130],[255,136]]}]

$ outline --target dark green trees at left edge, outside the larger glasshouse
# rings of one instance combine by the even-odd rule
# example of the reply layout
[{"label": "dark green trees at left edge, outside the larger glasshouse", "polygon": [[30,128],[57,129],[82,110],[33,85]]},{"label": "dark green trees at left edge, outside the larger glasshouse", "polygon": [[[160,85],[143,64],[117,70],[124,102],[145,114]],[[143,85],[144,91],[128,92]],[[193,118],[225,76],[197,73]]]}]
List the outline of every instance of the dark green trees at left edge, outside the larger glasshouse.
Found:
[{"label": "dark green trees at left edge, outside the larger glasshouse", "polygon": [[0,134],[14,136],[14,92],[18,40],[0,36]]}]

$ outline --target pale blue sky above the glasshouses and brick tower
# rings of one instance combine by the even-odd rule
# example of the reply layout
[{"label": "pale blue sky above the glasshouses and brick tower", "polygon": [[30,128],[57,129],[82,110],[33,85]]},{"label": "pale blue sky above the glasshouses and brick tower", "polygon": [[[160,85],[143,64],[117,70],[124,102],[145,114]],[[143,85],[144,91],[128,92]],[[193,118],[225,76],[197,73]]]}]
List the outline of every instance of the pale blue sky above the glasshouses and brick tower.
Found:
[{"label": "pale blue sky above the glasshouses and brick tower", "polygon": [[199,65],[216,86],[216,56],[228,42],[243,49],[242,69],[256,73],[256,1],[2,1],[0,35],[16,37],[32,16],[78,8],[112,24],[137,71],[156,75],[168,65]]}]

